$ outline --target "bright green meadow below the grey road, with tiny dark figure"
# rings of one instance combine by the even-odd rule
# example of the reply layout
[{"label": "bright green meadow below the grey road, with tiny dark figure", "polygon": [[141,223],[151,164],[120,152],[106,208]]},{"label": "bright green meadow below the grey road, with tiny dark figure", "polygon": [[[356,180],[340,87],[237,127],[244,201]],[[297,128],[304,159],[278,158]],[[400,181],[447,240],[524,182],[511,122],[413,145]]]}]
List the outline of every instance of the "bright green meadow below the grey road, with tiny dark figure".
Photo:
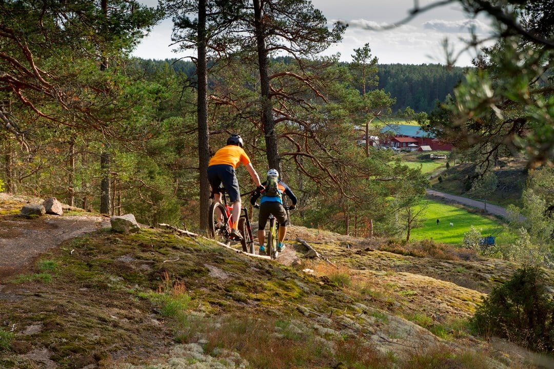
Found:
[{"label": "bright green meadow below the grey road, with tiny dark figure", "polygon": [[[425,200],[427,201],[427,200]],[[479,214],[471,214],[463,208],[440,202],[429,201],[429,207],[423,215],[423,226],[413,229],[411,241],[430,240],[442,243],[460,245],[464,240],[464,233],[471,226],[481,229],[483,237],[493,235],[496,242],[502,242],[501,232],[504,230],[500,221],[491,220]],[[437,224],[437,219],[439,224]],[[450,226],[450,223],[453,226]]]}]

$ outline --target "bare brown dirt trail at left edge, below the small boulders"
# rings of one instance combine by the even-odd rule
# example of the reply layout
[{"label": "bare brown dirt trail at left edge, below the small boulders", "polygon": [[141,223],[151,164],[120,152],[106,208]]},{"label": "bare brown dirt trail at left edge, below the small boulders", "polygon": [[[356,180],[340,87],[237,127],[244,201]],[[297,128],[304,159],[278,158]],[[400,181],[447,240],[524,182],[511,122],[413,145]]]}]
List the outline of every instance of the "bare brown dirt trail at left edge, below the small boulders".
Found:
[{"label": "bare brown dirt trail at left edge, below the small boulders", "polygon": [[[24,202],[10,201],[0,207],[20,209]],[[61,242],[110,226],[110,220],[101,216],[45,215],[27,219],[18,215],[0,217],[0,281],[23,272],[40,254]]]}]

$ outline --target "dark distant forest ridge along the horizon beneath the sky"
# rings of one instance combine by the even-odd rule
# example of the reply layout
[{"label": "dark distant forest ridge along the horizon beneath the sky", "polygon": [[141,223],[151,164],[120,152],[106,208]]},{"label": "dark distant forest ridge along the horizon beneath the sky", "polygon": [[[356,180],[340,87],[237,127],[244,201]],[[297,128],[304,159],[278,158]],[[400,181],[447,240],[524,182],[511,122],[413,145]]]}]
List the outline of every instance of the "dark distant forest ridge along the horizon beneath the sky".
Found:
[{"label": "dark distant forest ridge along the horizon beneath the sky", "polygon": [[[283,59],[279,58],[279,61]],[[196,67],[192,61],[141,59],[140,64],[146,72],[153,73],[165,63],[176,72],[194,79]],[[396,98],[393,111],[410,107],[416,112],[427,113],[433,111],[437,101],[444,101],[448,94],[453,93],[466,71],[463,67],[447,68],[440,64],[380,64],[378,67],[377,89],[383,89]]]}]

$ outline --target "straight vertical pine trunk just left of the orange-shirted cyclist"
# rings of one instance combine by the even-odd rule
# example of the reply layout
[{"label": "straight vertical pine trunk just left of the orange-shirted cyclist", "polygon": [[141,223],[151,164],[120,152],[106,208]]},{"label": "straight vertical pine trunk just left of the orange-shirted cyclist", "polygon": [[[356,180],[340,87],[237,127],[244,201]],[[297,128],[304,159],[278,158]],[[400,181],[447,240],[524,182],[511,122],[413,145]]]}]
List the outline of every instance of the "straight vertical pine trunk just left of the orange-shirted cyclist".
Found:
[{"label": "straight vertical pine trunk just left of the orange-shirted cyclist", "polygon": [[207,101],[207,62],[206,62],[206,0],[198,1],[198,171],[200,182],[200,230],[208,232],[209,213],[209,131]]}]

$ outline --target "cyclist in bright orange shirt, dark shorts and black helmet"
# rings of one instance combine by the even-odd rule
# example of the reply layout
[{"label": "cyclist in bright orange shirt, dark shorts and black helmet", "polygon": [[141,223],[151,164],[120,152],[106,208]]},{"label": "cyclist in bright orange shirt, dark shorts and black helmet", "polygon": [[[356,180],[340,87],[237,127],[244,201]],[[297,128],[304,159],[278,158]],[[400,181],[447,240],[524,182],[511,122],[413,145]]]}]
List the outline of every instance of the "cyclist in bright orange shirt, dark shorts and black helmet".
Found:
[{"label": "cyclist in bright orange shirt, dark shorts and black helmet", "polygon": [[232,134],[227,139],[227,145],[217,150],[208,163],[208,181],[212,188],[212,199],[220,201],[221,194],[218,189],[223,183],[223,187],[229,194],[229,201],[233,204],[231,235],[238,240],[242,239],[238,231],[238,220],[242,202],[240,201],[239,182],[235,175],[237,165],[243,163],[248,173],[250,173],[254,184],[258,186],[257,190],[263,189],[260,177],[252,166],[252,163],[250,163],[250,158],[244,152],[243,145],[243,139],[238,134]]}]

